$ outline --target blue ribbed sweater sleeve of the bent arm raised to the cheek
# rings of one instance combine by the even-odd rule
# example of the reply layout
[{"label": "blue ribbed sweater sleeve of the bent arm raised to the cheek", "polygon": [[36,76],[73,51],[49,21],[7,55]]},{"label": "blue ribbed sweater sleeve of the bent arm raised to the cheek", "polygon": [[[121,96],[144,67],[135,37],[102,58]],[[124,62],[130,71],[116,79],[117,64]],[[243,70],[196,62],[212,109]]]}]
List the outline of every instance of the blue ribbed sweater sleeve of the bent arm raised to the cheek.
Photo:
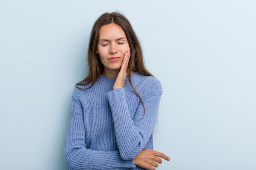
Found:
[{"label": "blue ribbed sweater sleeve of the bent arm raised to the cheek", "polygon": [[162,86],[159,81],[156,81],[153,86],[152,84],[148,86],[146,93],[141,95],[145,114],[140,102],[135,117],[132,118],[124,88],[108,92],[117,145],[122,159],[134,159],[146,146],[155,128],[161,95]]}]

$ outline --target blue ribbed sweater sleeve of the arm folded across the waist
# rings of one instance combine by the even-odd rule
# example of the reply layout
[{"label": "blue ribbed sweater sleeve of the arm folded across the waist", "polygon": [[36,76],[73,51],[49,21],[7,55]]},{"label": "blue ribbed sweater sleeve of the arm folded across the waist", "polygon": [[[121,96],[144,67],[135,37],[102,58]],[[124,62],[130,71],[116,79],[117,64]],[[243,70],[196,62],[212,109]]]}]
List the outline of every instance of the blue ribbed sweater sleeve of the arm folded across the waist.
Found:
[{"label": "blue ribbed sweater sleeve of the arm folded across the waist", "polygon": [[69,170],[125,170],[135,167],[133,160],[121,159],[119,151],[105,152],[86,147],[83,108],[73,97],[65,142],[65,161]]}]

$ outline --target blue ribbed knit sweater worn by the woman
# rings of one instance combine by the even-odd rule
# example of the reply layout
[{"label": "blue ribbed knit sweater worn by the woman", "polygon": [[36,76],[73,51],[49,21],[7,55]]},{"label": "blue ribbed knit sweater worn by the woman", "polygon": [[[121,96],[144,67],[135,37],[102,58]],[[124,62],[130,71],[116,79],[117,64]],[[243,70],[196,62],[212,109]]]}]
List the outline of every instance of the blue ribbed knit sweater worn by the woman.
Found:
[{"label": "blue ribbed knit sweater worn by the woman", "polygon": [[[153,149],[162,86],[154,77],[131,74],[124,88],[100,75],[87,89],[75,88],[65,143],[69,170],[145,170],[133,164],[143,149]],[[87,88],[90,84],[79,86]]]}]

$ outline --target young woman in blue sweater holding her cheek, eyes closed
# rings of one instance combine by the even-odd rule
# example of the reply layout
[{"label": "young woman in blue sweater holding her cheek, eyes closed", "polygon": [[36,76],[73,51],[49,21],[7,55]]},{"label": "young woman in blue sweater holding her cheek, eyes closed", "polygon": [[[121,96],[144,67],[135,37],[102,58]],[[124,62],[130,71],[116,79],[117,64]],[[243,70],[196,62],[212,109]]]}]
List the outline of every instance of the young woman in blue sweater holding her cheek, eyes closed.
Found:
[{"label": "young woman in blue sweater holding her cheek, eyes closed", "polygon": [[72,94],[65,144],[69,170],[155,170],[153,150],[162,86],[145,68],[130,22],[104,13],[94,23],[88,76]]}]

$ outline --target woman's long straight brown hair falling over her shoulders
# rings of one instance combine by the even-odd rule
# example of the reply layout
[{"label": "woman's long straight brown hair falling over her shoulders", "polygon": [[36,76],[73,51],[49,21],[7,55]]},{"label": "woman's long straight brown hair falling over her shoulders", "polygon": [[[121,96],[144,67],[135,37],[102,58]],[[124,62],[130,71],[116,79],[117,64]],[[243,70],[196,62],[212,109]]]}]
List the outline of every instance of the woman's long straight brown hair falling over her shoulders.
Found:
[{"label": "woman's long straight brown hair falling over her shoulders", "polygon": [[[118,12],[113,12],[113,13],[103,13],[98,20],[94,23],[92,27],[92,32],[90,35],[90,42],[89,42],[89,48],[88,48],[88,57],[87,57],[87,62],[88,62],[88,75],[83,79],[81,82],[76,84],[76,87],[79,88],[77,85],[86,85],[90,84],[91,88],[94,83],[97,81],[99,76],[103,73],[104,71],[104,66],[101,63],[99,59],[99,54],[96,53],[97,51],[97,46],[99,43],[99,30],[101,26],[110,24],[110,23],[115,23],[121,26],[121,28],[124,30],[126,34],[126,38],[128,41],[128,44],[130,46],[130,60],[128,63],[127,67],[127,77],[130,85],[132,86],[133,90],[135,93],[138,95],[139,99],[141,100],[141,103],[144,107],[144,103],[140,97],[140,95],[137,93],[135,90],[135,87],[132,85],[131,81],[131,73],[137,72],[141,75],[146,75],[146,76],[153,76],[145,67],[144,65],[144,60],[143,60],[143,53],[141,49],[141,45],[139,43],[139,40],[132,29],[132,25],[128,21],[128,19],[118,13]],[[80,89],[88,89],[88,88],[80,88]],[[145,107],[144,107],[144,114],[145,114]]]}]

